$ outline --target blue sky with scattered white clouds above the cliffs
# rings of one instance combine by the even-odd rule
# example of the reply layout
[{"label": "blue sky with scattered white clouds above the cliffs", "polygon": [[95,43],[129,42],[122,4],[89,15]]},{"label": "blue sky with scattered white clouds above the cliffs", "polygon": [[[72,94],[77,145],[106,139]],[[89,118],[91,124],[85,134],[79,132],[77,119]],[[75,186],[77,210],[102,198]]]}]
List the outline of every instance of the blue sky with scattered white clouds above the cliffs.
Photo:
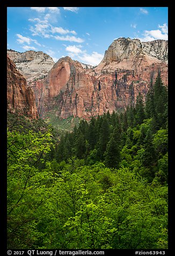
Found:
[{"label": "blue sky with scattered white clouds above the cliffs", "polygon": [[120,37],[167,40],[166,7],[8,7],[8,49],[92,66]]}]

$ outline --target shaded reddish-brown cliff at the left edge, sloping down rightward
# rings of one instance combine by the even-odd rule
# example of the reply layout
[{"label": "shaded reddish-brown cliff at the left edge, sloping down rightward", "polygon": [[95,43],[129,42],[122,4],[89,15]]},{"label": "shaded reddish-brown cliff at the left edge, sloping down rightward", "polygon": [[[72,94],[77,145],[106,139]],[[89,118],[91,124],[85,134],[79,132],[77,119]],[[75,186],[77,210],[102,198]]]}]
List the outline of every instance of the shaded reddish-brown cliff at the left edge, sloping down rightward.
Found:
[{"label": "shaded reddish-brown cliff at the left edge, sloping down rightward", "polygon": [[9,57],[7,58],[7,102],[8,111],[38,118],[34,93],[31,88],[27,88],[26,79],[18,72]]}]

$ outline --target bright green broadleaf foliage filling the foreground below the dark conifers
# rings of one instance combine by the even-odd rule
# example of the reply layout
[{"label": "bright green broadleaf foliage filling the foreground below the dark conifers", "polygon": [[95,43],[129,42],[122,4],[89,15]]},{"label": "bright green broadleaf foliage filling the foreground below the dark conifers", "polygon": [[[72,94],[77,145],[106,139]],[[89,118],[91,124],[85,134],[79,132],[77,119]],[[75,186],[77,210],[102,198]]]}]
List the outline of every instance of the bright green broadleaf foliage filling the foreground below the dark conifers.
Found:
[{"label": "bright green broadleaf foliage filling the foreground below the dark conifers", "polygon": [[8,131],[8,146],[8,248],[167,248],[166,185],[75,157],[40,170],[49,132]]}]

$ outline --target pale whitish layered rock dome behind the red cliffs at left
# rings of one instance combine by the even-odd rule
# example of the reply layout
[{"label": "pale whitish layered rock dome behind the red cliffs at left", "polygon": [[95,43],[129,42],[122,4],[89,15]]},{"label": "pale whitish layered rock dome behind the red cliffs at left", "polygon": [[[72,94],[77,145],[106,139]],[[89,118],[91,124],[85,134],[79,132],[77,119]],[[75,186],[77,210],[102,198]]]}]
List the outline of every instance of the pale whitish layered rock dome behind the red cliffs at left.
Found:
[{"label": "pale whitish layered rock dome behind the red cliffs at left", "polygon": [[25,76],[29,85],[35,80],[46,77],[54,65],[53,59],[43,52],[26,51],[19,53],[10,49],[8,55],[16,64],[18,71]]}]

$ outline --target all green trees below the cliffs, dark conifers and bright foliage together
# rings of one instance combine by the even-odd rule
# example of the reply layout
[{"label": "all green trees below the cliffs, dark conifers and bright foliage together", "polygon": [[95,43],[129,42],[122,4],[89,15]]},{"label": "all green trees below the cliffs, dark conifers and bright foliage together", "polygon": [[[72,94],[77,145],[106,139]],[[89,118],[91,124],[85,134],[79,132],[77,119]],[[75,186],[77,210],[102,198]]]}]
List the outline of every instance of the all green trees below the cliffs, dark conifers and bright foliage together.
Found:
[{"label": "all green trees below the cliffs, dark conifers and bright foliage together", "polygon": [[143,101],[60,133],[8,113],[10,249],[166,249],[168,101]]}]

